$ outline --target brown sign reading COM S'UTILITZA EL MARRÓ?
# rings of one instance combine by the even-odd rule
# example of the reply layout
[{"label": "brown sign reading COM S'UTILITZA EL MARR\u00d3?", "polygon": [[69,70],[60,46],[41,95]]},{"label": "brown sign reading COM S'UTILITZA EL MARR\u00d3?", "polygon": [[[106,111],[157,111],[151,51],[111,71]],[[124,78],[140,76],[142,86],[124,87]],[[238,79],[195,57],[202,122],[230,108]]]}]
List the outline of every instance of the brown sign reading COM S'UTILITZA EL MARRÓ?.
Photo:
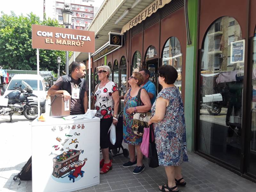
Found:
[{"label": "brown sign reading COM S'UTILITZA EL MARR\u00d3?", "polygon": [[32,48],[95,52],[95,33],[78,29],[32,25]]}]

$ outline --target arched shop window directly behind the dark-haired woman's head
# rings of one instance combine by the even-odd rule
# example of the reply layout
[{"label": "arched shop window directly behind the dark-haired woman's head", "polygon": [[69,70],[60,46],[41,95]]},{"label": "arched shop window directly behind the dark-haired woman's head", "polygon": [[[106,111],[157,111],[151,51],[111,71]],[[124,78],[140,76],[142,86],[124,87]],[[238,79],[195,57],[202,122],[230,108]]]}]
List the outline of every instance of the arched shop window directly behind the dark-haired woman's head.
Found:
[{"label": "arched shop window directly behind the dark-haired woman's head", "polygon": [[182,53],[180,41],[177,37],[169,38],[164,44],[162,65],[171,65],[177,70],[178,78],[174,84],[181,91]]}]

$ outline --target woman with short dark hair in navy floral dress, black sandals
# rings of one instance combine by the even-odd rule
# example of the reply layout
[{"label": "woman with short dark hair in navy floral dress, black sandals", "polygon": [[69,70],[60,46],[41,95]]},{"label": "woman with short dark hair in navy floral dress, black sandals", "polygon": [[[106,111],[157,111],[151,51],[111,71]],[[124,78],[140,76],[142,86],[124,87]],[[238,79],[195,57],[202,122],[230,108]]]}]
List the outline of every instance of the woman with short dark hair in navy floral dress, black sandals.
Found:
[{"label": "woman with short dark hair in navy floral dress, black sandals", "polygon": [[180,165],[188,161],[184,106],[180,90],[174,85],[178,73],[170,65],[158,69],[159,84],[163,89],[158,93],[152,106],[156,150],[159,165],[163,165],[168,183],[159,186],[161,191],[179,191],[177,185],[185,186]]}]

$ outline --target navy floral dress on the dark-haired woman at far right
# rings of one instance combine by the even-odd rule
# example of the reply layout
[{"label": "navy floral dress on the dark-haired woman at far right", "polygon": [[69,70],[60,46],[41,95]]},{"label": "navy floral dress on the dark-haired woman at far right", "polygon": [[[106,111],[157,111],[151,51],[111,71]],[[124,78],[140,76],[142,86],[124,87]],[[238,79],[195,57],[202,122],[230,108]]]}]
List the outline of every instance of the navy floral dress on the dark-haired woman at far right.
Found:
[{"label": "navy floral dress on the dark-haired woman at far right", "polygon": [[[154,123],[159,165],[178,166],[188,161],[183,101],[177,87],[163,89],[159,97],[169,100],[163,120]],[[156,101],[151,111],[155,115]]]}]

